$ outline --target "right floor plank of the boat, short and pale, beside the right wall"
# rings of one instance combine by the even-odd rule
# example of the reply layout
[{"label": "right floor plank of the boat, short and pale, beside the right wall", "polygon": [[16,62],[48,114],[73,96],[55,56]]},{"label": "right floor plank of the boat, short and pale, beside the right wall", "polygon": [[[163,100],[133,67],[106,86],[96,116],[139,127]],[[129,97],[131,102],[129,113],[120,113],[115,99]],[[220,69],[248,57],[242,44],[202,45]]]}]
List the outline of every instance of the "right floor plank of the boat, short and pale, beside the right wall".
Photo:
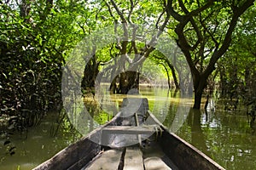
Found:
[{"label": "right floor plank of the boat, short and pale, beside the right wall", "polygon": [[160,157],[148,157],[144,159],[145,170],[172,170],[171,167],[168,167]]}]

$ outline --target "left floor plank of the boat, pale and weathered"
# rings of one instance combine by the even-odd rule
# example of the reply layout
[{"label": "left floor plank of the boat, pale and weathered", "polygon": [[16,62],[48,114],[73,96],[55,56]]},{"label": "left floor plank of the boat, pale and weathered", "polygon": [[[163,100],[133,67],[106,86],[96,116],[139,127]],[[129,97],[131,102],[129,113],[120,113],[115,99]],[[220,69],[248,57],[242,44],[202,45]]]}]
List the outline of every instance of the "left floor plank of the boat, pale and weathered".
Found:
[{"label": "left floor plank of the boat, pale and weathered", "polygon": [[122,150],[107,150],[102,153],[101,156],[97,157],[96,160],[90,162],[86,170],[115,170],[119,167]]}]

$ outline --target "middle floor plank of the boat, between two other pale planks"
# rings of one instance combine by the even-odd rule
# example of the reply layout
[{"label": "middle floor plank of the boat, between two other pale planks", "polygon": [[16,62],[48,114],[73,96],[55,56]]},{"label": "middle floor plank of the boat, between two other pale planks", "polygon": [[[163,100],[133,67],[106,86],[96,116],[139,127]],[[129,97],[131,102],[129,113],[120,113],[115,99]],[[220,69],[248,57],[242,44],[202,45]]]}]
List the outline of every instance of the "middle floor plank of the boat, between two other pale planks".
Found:
[{"label": "middle floor plank of the boat, between two other pale planks", "polygon": [[143,170],[143,152],[137,147],[128,147],[125,152],[124,170]]}]

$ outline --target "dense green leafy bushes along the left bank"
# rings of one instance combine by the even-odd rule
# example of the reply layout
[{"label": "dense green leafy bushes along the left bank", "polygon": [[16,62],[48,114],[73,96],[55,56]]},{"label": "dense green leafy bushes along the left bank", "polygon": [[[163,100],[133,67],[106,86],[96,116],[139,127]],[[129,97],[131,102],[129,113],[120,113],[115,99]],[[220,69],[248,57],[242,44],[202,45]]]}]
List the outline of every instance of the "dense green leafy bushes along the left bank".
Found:
[{"label": "dense green leafy bushes along the left bank", "polygon": [[23,3],[26,16],[19,13],[22,8],[13,8],[17,4],[0,6],[1,114],[19,117],[20,127],[60,107],[61,66],[83,35],[74,29],[78,8],[71,3]]}]

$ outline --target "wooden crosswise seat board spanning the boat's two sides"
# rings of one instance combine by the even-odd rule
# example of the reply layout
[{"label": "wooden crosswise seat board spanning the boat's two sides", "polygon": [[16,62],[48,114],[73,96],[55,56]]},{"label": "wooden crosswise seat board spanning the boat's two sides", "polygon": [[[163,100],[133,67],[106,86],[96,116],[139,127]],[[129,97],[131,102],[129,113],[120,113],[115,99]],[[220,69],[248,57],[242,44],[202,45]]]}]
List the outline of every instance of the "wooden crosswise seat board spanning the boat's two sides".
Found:
[{"label": "wooden crosswise seat board spanning the boat's two sides", "polygon": [[155,126],[130,127],[130,126],[108,126],[102,129],[102,133],[120,133],[120,134],[152,134],[155,132]]}]

